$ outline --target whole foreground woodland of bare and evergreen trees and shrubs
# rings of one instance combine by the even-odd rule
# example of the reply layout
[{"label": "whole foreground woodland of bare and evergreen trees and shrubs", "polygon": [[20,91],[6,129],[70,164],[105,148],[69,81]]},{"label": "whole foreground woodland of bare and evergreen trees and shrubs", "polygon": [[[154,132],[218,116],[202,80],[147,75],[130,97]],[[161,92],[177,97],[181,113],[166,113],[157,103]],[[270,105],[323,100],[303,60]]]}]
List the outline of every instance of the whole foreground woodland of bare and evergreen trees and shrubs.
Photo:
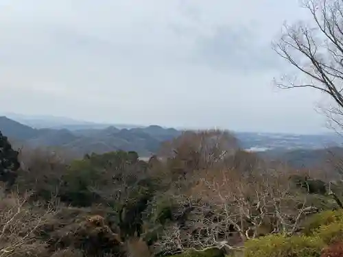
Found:
[{"label": "whole foreground woodland of bare and evergreen trees and shrubs", "polygon": [[3,257],[320,256],[340,247],[342,212],[329,211],[340,208],[340,182],[272,167],[229,132],[184,132],[148,162],[134,151],[18,155],[0,142]]}]

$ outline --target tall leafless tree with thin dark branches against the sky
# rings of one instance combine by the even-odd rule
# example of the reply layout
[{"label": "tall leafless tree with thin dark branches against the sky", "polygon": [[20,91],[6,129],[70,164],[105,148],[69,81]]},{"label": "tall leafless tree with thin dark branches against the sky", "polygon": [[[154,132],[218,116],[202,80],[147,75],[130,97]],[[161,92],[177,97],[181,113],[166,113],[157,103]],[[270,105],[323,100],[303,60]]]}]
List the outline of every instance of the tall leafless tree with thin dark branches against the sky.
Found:
[{"label": "tall leafless tree with thin dark branches against the sky", "polygon": [[313,88],[333,100],[324,108],[331,127],[342,129],[343,115],[343,2],[305,0],[311,23],[285,25],[274,42],[279,53],[299,73],[275,80],[281,88]]}]

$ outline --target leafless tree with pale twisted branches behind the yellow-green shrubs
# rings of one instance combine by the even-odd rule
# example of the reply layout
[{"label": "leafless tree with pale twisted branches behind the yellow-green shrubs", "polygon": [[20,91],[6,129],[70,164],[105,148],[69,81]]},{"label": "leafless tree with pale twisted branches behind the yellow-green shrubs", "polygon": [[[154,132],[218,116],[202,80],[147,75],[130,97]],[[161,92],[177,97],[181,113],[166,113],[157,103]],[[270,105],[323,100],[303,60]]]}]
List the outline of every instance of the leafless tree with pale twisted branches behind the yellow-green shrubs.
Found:
[{"label": "leafless tree with pale twisted branches behind the yellow-green shrubs", "polygon": [[[207,171],[187,195],[187,222],[173,223],[155,247],[168,254],[209,248],[239,249],[244,241],[268,233],[294,234],[308,206],[280,174]],[[181,210],[182,212],[183,210]]]}]

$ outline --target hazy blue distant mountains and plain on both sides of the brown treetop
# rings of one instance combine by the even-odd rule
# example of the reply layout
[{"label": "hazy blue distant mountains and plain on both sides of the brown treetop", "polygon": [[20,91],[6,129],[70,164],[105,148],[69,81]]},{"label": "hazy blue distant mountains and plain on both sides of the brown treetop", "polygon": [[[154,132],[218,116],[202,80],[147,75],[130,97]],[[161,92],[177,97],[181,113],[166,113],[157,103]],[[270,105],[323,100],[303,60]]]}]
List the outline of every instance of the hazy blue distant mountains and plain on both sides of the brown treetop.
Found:
[{"label": "hazy blue distant mountains and plain on both sides of the brown treetop", "polygon": [[[15,119],[14,119],[15,118]],[[58,117],[25,117],[12,114],[0,117],[0,131],[14,147],[53,147],[75,157],[122,149],[150,157],[161,143],[181,134],[180,130],[158,125],[110,125]],[[327,158],[331,148],[343,156],[343,138],[336,134],[295,135],[235,132],[241,148],[257,151],[263,158],[284,160],[295,167],[310,166]]]}]

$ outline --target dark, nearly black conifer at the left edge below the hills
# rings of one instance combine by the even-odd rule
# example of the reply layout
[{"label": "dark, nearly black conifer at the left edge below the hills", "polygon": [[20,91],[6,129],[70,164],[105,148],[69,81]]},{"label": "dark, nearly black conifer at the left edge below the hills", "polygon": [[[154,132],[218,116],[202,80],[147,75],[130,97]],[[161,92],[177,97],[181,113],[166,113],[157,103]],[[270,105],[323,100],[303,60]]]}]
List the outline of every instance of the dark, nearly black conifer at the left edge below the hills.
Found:
[{"label": "dark, nearly black conifer at the left edge below the hills", "polygon": [[8,138],[0,132],[0,180],[8,183],[8,186],[14,184],[16,171],[20,168],[18,154],[18,151],[12,149]]}]

